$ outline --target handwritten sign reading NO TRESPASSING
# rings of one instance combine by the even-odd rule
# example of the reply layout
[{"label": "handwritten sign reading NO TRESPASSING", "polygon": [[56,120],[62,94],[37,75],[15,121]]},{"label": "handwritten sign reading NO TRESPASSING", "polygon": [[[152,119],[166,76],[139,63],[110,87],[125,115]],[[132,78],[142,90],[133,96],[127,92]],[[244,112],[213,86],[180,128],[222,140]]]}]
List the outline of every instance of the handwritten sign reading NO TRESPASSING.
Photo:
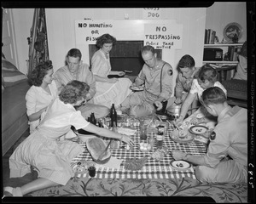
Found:
[{"label": "handwritten sign reading NO TRESPASSING", "polygon": [[181,24],[145,24],[144,45],[157,49],[180,49],[183,42]]}]

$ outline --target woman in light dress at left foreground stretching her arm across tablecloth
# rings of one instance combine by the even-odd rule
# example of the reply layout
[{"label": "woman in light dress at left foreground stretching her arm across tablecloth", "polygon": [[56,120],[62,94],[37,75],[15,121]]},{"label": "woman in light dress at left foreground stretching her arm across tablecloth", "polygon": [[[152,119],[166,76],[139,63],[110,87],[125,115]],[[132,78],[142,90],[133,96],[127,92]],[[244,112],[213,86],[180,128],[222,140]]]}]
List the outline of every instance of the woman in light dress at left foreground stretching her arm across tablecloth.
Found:
[{"label": "woman in light dress at left foreground stretching her arm across tablecloth", "polygon": [[89,88],[85,82],[79,81],[69,82],[62,88],[61,94],[49,105],[36,130],[20,143],[9,158],[10,178],[30,173],[31,166],[38,172],[38,178],[21,187],[5,187],[5,196],[22,196],[35,190],[67,184],[73,177],[70,162],[84,151],[79,143],[58,140],[71,126],[134,145],[129,136],[96,127],[87,122],[80,111],[76,111],[74,106],[85,102]]}]

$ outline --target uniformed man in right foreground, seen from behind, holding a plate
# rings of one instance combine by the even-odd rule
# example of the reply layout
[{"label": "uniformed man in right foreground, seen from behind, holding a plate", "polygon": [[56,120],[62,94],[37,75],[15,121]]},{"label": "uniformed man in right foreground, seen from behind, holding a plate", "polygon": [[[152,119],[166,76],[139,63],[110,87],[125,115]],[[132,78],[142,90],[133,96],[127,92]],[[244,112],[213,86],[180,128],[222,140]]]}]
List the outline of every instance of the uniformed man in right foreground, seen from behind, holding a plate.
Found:
[{"label": "uniformed man in right foreground, seen from behind, holding a plate", "polygon": [[203,183],[247,182],[247,110],[230,107],[224,91],[218,87],[207,88],[202,99],[207,111],[218,116],[207,154],[192,156],[173,150],[173,158],[198,165],[195,177]]}]

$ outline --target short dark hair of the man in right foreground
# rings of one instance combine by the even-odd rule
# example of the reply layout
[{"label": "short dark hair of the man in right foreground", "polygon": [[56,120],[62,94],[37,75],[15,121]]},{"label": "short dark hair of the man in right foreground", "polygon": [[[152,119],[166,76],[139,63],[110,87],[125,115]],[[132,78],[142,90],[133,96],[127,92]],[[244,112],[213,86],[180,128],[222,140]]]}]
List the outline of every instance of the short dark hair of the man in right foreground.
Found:
[{"label": "short dark hair of the man in right foreground", "polygon": [[204,105],[223,104],[227,100],[227,97],[221,88],[211,87],[203,91],[202,100]]}]

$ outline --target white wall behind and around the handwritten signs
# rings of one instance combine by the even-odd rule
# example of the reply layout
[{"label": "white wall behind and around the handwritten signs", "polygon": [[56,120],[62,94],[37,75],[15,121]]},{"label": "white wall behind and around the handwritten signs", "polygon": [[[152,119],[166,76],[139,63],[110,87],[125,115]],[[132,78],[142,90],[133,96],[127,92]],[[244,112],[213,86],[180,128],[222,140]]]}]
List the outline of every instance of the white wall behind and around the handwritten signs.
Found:
[{"label": "white wall behind and around the handwritten signs", "polygon": [[[125,20],[125,14],[129,15],[129,20],[143,20],[143,8],[46,8],[49,58],[55,71],[64,65],[67,51],[76,48],[75,20]],[[162,20],[176,20],[177,24],[183,24],[183,48],[175,52],[163,50],[162,54],[162,59],[174,69],[183,54],[191,54],[196,65],[202,65],[205,16],[206,8],[162,8]],[[121,32],[116,33],[115,37],[121,36]],[[83,61],[89,64],[88,49],[80,49]],[[174,71],[176,76],[177,71]]]}]

